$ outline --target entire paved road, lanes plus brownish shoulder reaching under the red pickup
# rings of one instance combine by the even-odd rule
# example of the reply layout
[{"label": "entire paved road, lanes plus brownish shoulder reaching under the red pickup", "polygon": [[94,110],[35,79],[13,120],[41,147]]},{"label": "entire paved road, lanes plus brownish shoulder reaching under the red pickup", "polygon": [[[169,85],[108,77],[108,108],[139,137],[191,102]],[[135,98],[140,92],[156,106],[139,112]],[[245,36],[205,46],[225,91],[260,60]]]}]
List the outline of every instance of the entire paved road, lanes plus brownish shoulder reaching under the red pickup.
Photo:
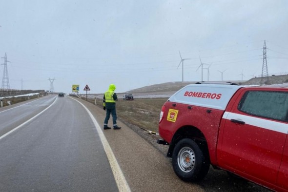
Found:
[{"label": "entire paved road, lanes plus brownish shoulder reaching under the red pickup", "polygon": [[212,168],[202,182],[185,183],[165,157],[166,146],[121,121],[121,130],[103,130],[104,116],[103,109],[68,96],[1,108],[0,191],[268,191]]}]

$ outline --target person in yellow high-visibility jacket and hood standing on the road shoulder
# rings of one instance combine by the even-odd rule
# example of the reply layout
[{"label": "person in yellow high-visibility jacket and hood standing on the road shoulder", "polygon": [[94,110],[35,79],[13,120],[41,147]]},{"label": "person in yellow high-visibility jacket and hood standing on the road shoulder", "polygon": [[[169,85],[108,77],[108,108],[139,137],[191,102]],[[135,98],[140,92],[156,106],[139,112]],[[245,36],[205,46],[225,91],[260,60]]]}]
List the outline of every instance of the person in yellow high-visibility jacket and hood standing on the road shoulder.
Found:
[{"label": "person in yellow high-visibility jacket and hood standing on the road shoulder", "polygon": [[106,110],[106,117],[104,120],[104,129],[111,129],[108,127],[108,120],[110,118],[110,114],[112,114],[113,119],[113,129],[121,129],[121,127],[117,126],[117,115],[116,115],[116,101],[118,97],[115,93],[116,86],[114,84],[109,85],[109,89],[104,93],[103,96],[103,110]]}]

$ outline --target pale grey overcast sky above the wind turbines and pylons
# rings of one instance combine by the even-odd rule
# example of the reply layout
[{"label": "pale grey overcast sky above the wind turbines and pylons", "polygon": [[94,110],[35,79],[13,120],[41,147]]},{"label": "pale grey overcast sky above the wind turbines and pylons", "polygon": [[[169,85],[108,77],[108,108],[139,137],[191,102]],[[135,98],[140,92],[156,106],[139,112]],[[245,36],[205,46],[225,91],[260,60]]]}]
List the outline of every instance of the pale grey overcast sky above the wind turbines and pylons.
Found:
[{"label": "pale grey overcast sky above the wind turbines and pylons", "polygon": [[[116,93],[152,84],[288,73],[288,0],[0,0],[11,89]],[[0,63],[4,63],[1,58]],[[210,65],[211,64],[211,65]],[[179,68],[178,68],[179,66]],[[2,82],[4,65],[0,65]],[[198,69],[198,70],[197,70]],[[207,81],[207,69],[203,80]],[[243,74],[243,75],[241,75]],[[22,79],[22,81],[21,81]]]}]

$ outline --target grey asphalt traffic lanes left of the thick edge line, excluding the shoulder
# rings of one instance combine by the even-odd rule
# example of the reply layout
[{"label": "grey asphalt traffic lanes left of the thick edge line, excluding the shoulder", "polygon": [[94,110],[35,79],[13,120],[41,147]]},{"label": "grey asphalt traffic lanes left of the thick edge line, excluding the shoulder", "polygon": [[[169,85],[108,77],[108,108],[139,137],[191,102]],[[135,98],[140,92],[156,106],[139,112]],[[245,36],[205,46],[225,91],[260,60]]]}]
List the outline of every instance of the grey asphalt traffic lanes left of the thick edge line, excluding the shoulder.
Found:
[{"label": "grey asphalt traffic lanes left of the thick edge line, excluding the shoulder", "polygon": [[41,115],[0,139],[0,191],[118,191],[95,126],[74,100],[47,96],[3,111],[1,130],[54,101]]}]

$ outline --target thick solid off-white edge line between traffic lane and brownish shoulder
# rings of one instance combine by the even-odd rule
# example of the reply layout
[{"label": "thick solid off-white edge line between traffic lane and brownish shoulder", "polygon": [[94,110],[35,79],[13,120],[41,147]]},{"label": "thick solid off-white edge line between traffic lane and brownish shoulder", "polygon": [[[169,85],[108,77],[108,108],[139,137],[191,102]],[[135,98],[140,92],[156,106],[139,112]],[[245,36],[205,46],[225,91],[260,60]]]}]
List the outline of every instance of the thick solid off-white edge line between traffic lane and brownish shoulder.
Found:
[{"label": "thick solid off-white edge line between traffic lane and brownish shoulder", "polygon": [[[69,96],[69,98],[74,99],[70,96]],[[98,124],[98,122],[96,121],[94,116],[91,114],[91,112],[87,109],[87,107],[85,107],[80,101],[78,101],[76,99],[74,99],[74,100],[79,102],[84,107],[84,109],[90,115],[90,118],[92,119],[92,121],[95,125],[95,128],[96,128],[96,130],[100,136],[101,142],[103,144],[104,151],[105,151],[107,158],[108,158],[108,161],[110,163],[110,167],[111,167],[112,173],[114,175],[115,181],[117,183],[118,190],[120,192],[131,192],[130,187],[129,187],[129,185],[128,185],[125,177],[124,177],[124,174],[123,174],[123,172],[122,172],[122,170],[121,170],[121,168],[120,168],[120,166],[116,160],[115,155],[112,152],[112,149],[111,149],[105,135],[103,134],[103,131],[102,131],[100,125]]]}]

